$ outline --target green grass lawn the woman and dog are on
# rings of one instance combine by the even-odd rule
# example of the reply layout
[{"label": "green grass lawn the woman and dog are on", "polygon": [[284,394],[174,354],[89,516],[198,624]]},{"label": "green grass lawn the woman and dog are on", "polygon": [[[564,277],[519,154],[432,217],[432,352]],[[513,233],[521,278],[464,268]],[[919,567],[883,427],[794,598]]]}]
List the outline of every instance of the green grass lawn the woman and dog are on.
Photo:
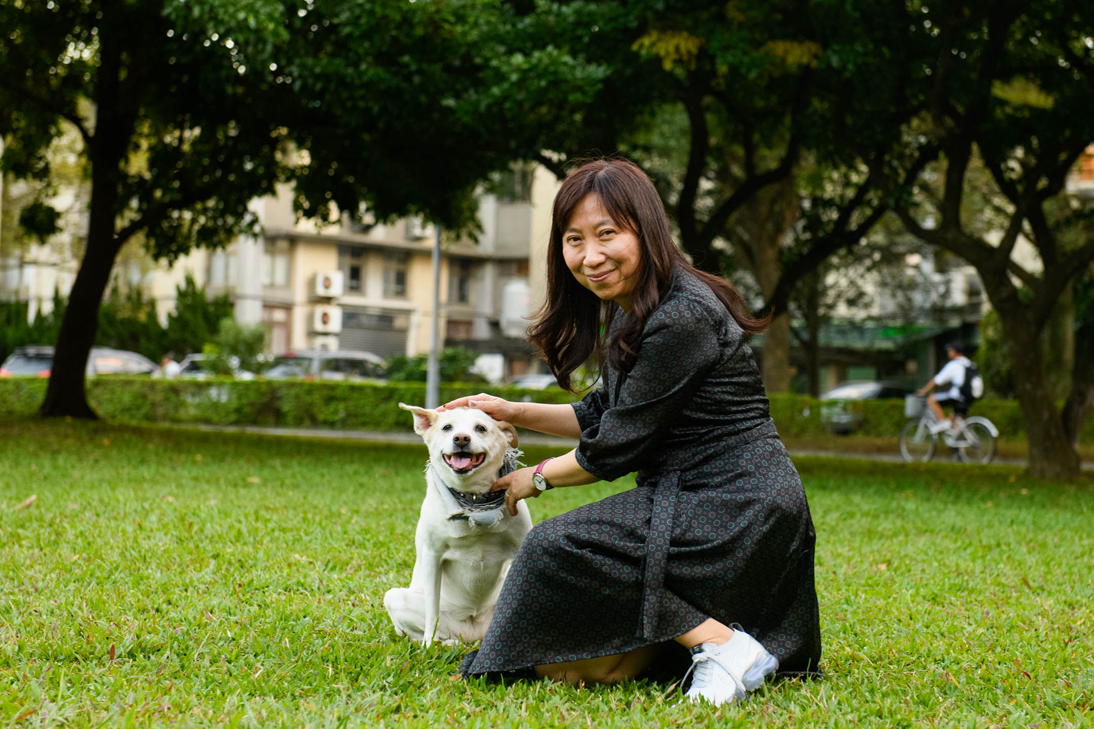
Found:
[{"label": "green grass lawn the woman and dog are on", "polygon": [[[464,648],[398,638],[381,597],[409,583],[424,456],[0,425],[0,727],[1092,724],[1090,477],[800,459],[827,678],[712,709],[647,682],[453,680]],[[533,517],[631,483],[551,492]]]}]

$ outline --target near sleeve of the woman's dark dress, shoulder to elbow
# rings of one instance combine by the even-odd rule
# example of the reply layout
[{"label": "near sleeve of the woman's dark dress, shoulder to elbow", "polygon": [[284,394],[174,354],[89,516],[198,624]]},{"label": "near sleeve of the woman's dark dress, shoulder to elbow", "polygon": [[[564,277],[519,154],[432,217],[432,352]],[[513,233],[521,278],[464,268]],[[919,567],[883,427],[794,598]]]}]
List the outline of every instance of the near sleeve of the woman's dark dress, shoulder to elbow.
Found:
[{"label": "near sleeve of the woman's dark dress, shoulder to elbow", "polygon": [[[720,329],[709,314],[685,302],[654,311],[615,407],[604,408],[587,426],[578,415],[583,430],[574,455],[581,468],[605,481],[640,469],[719,361]],[[606,396],[598,400],[602,407],[607,402]]]}]

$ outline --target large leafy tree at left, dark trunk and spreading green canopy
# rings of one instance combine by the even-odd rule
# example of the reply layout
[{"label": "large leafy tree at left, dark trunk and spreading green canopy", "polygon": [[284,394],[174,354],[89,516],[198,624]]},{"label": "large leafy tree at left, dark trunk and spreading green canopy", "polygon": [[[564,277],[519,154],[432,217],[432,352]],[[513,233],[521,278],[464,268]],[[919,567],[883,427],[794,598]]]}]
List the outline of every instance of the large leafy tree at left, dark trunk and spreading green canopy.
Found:
[{"label": "large leafy tree at left, dark trunk and spreading green canopy", "polygon": [[307,216],[466,225],[474,185],[538,152],[520,144],[600,74],[500,0],[0,0],[0,167],[48,177],[62,120],[89,161],[47,415],[94,416],[95,311],[133,235],[167,259],[225,244],[289,180]]}]

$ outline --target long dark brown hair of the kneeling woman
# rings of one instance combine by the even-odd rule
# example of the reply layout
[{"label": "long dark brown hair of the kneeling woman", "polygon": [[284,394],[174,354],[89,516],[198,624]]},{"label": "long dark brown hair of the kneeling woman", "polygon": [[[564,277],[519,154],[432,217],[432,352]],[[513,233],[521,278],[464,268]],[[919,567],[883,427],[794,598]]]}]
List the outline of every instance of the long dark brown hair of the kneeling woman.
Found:
[{"label": "long dark brown hair of the kneeling woman", "polygon": [[[578,283],[562,257],[562,233],[578,203],[591,193],[601,199],[616,225],[638,236],[642,252],[630,297],[631,310],[610,341],[608,324],[616,305],[601,301]],[[668,293],[675,266],[710,286],[746,332],[767,328],[770,316],[753,318],[732,283],[698,270],[684,258],[673,243],[668,216],[653,183],[636,164],[620,158],[595,160],[570,173],[555,196],[551,212],[547,301],[536,311],[528,330],[528,340],[544,353],[559,385],[577,391],[570,376],[594,354],[602,369],[606,361],[619,372],[630,372],[645,320]]]}]

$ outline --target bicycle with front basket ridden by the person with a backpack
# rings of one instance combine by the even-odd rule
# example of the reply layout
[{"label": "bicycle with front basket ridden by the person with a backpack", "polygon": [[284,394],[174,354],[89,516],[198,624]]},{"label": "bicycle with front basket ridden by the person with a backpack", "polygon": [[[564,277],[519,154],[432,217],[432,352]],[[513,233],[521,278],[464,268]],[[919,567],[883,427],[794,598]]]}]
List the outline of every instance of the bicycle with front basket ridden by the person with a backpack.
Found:
[{"label": "bicycle with front basket ridden by the person with a backpack", "polygon": [[934,428],[939,419],[927,407],[927,398],[919,395],[905,396],[904,415],[910,420],[900,430],[900,455],[909,463],[931,460],[940,435],[942,443],[955,449],[966,463],[990,463],[996,457],[999,431],[987,418],[958,415],[956,425],[940,432]]}]

